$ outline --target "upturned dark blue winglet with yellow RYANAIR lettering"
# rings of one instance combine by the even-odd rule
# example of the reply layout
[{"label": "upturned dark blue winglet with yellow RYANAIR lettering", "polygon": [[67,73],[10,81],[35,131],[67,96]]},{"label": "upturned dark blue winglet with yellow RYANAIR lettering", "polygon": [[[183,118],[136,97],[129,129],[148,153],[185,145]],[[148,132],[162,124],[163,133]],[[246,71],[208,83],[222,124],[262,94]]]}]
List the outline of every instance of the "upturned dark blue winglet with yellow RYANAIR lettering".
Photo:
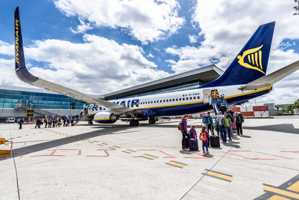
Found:
[{"label": "upturned dark blue winglet with yellow RYANAIR lettering", "polygon": [[14,17],[14,34],[15,34],[15,71],[17,77],[23,81],[24,83],[32,84],[39,79],[28,72],[25,65],[25,56],[24,56],[24,48],[23,48],[23,39],[22,39],[22,31],[21,31],[21,21],[19,15],[19,7],[15,10]]}]

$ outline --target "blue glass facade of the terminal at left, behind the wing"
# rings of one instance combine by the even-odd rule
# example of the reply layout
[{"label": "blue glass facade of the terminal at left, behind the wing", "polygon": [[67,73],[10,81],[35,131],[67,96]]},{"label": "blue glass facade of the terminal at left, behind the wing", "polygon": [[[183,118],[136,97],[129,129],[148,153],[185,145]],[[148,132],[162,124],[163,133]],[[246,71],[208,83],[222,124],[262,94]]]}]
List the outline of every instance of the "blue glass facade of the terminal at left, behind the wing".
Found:
[{"label": "blue glass facade of the terminal at left, behind the wing", "polygon": [[[26,88],[29,90],[29,88]],[[38,90],[31,89],[30,90]],[[88,105],[84,101],[74,99],[61,94],[41,92],[19,91],[0,89],[0,108],[13,108],[17,101],[28,104],[31,103],[40,109],[66,109],[66,110],[82,110],[83,104]],[[49,92],[49,91],[48,91]]]}]

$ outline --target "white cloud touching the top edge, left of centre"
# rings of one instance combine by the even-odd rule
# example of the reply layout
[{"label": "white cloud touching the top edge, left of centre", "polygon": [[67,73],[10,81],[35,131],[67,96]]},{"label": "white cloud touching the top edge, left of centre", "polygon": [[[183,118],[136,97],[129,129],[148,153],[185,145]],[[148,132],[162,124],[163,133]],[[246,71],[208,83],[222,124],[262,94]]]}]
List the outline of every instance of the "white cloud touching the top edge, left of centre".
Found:
[{"label": "white cloud touching the top edge, left of centre", "polygon": [[54,4],[66,16],[78,16],[80,25],[74,32],[120,27],[145,44],[176,33],[185,22],[178,16],[180,4],[176,0],[54,0]]}]

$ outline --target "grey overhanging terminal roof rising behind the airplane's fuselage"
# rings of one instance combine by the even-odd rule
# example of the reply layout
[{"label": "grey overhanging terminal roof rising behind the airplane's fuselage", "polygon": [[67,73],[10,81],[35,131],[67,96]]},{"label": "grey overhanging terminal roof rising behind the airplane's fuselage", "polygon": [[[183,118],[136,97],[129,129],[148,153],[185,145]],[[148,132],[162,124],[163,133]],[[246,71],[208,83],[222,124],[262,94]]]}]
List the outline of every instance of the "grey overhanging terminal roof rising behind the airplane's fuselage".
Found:
[{"label": "grey overhanging terminal roof rising behind the airplane's fuselage", "polygon": [[148,83],[129,87],[129,88],[119,90],[116,92],[104,94],[104,98],[105,99],[113,99],[118,96],[130,95],[130,94],[139,93],[142,91],[152,90],[152,89],[156,89],[156,88],[160,88],[160,87],[166,87],[169,85],[184,83],[187,81],[192,81],[192,80],[197,80],[197,79],[200,79],[200,80],[203,80],[206,82],[211,82],[211,81],[214,81],[219,76],[221,76],[222,74],[223,74],[223,71],[213,64],[213,65],[201,67],[198,69],[194,69],[194,70],[191,70],[188,72],[183,72],[180,74],[162,78],[162,79],[159,79],[156,81],[151,81]]}]

